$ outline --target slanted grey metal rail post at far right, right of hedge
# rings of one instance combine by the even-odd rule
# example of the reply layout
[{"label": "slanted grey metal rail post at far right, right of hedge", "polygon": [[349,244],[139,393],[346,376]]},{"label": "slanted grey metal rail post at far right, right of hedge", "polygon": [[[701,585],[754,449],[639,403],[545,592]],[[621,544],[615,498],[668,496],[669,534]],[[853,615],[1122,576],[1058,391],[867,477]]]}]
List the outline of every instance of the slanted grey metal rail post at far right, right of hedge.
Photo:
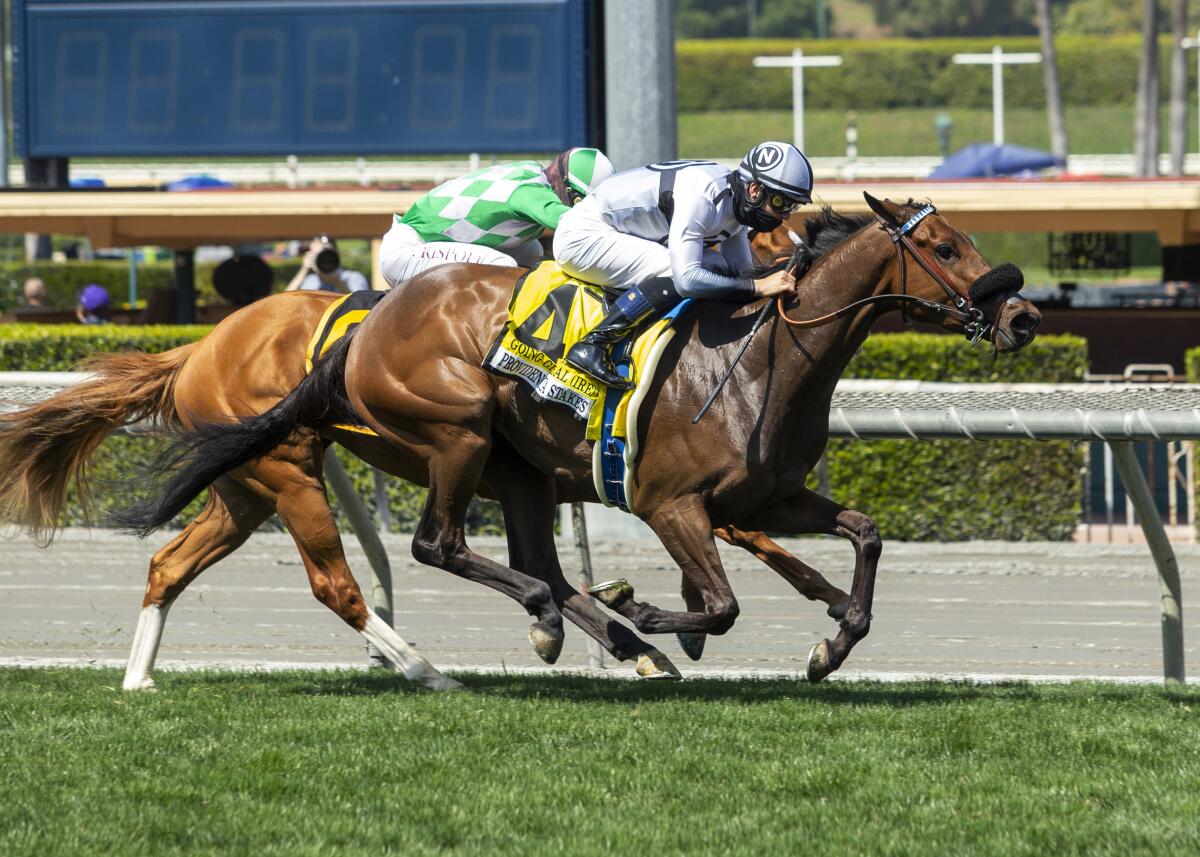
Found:
[{"label": "slanted grey metal rail post at far right, right of hedge", "polygon": [[1180,567],[1175,551],[1163,529],[1163,520],[1154,508],[1154,498],[1146,485],[1146,477],[1138,466],[1133,444],[1129,442],[1110,443],[1112,459],[1124,483],[1126,495],[1133,501],[1141,519],[1141,532],[1146,535],[1150,553],[1158,568],[1158,583],[1163,595],[1163,678],[1166,684],[1182,683],[1183,679],[1183,594],[1180,586]]}]

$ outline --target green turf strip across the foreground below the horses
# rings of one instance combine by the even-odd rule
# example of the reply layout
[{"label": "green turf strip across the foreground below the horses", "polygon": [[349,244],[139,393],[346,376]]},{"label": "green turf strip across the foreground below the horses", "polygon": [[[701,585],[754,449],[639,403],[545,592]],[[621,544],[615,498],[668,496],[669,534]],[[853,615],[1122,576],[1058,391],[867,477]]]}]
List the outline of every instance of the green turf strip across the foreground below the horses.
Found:
[{"label": "green turf strip across the foreground below the horses", "polygon": [[0,853],[1200,852],[1200,691],[0,671]]}]

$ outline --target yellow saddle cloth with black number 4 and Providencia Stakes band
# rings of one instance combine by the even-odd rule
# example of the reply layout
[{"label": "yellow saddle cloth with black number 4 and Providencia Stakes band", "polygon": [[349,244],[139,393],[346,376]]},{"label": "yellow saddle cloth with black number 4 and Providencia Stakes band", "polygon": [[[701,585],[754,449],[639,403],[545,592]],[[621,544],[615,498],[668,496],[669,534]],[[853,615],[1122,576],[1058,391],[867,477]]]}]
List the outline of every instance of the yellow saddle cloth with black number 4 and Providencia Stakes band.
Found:
[{"label": "yellow saddle cloth with black number 4 and Providencia Stakes band", "polygon": [[613,346],[613,365],[619,374],[632,378],[634,386],[607,389],[563,361],[566,349],[605,317],[605,293],[574,280],[557,263],[544,262],[517,281],[509,319],[484,360],[485,368],[528,384],[534,398],[562,404],[587,420],[587,438],[596,442],[593,478],[606,505],[632,511],[626,483],[637,459],[637,409],[674,336],[674,320],[690,304],[679,302]]}]

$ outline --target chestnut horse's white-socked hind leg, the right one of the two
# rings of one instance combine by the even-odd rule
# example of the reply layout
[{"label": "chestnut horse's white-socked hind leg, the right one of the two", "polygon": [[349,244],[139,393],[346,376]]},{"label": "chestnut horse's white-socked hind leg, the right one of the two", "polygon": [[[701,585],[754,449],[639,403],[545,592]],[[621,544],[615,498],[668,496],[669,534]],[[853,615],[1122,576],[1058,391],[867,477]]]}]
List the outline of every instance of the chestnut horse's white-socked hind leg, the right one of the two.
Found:
[{"label": "chestnut horse's white-socked hind leg, the right one of the two", "polygon": [[280,455],[258,467],[260,484],[274,495],[275,510],[300,551],[313,597],[379,649],[408,681],[431,690],[461,688],[367,606],[346,562],[342,537],[320,478],[322,460],[320,444],[312,443],[299,457]]}]

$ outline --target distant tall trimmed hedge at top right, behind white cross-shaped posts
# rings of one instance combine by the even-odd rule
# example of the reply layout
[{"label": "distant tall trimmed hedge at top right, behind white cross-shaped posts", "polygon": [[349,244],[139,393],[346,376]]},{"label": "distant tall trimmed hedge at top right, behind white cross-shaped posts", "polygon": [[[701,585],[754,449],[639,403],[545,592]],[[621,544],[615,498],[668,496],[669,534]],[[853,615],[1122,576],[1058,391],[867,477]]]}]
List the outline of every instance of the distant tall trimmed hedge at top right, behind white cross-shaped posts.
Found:
[{"label": "distant tall trimmed hedge at top right, behind white cross-shaped posts", "polygon": [[[1061,36],[1058,77],[1064,103],[1132,104],[1141,37]],[[991,66],[956,66],[955,53],[1040,52],[1036,37],[919,40],[695,40],[676,43],[678,104],[683,113],[707,110],[790,110],[792,76],[782,68],[755,68],[760,54],[838,54],[842,65],[805,80],[810,109],[866,110],[893,107],[991,107]],[[1159,79],[1169,80],[1170,40],[1159,40]],[[1004,68],[1008,104],[1042,107],[1040,64]],[[1188,64],[1188,86],[1195,64]],[[1165,89],[1164,97],[1165,97]],[[1188,91],[1192,91],[1190,89]]]}]

